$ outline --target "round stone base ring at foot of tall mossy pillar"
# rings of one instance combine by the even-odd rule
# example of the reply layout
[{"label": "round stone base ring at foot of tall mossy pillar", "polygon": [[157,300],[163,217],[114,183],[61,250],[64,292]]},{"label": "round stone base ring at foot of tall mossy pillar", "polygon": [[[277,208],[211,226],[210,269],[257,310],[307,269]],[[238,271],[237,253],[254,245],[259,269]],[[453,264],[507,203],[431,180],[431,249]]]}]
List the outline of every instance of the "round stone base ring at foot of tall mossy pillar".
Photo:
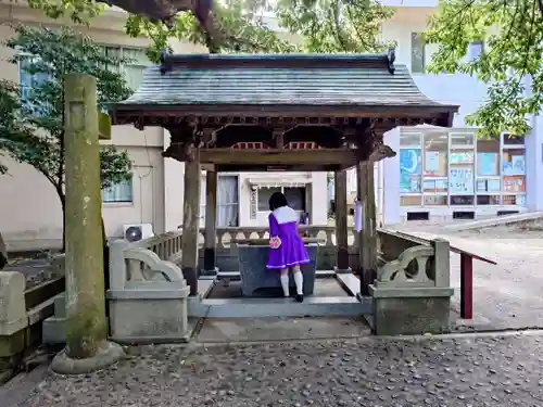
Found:
[{"label": "round stone base ring at foot of tall mossy pillar", "polygon": [[59,374],[85,374],[105,369],[124,357],[123,347],[116,343],[106,342],[96,356],[86,359],[73,359],[64,349],[53,358],[51,369]]}]

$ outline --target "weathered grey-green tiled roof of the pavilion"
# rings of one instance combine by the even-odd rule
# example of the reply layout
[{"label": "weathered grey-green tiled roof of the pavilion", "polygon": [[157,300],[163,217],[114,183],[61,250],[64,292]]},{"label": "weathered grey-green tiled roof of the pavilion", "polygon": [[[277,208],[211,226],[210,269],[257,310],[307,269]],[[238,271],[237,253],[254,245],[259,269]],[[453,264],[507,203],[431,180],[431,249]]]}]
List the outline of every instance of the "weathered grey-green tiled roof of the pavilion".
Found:
[{"label": "weathered grey-green tiled roof of the pavilion", "polygon": [[[168,56],[166,56],[167,59]],[[443,107],[388,55],[172,55],[147,68],[123,106],[318,105]],[[165,68],[166,67],[166,68]],[[449,109],[447,109],[449,107]]]}]

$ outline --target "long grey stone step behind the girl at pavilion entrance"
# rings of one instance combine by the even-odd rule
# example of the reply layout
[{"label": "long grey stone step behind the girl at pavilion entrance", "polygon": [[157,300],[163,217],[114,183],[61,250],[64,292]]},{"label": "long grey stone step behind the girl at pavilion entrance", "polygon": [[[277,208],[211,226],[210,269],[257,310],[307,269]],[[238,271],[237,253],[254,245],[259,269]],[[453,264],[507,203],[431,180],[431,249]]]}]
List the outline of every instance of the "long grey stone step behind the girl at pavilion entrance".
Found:
[{"label": "long grey stone step behind the girl at pavilion entrance", "polygon": [[189,303],[189,316],[202,318],[357,317],[372,313],[369,298],[352,296],[202,300]]}]

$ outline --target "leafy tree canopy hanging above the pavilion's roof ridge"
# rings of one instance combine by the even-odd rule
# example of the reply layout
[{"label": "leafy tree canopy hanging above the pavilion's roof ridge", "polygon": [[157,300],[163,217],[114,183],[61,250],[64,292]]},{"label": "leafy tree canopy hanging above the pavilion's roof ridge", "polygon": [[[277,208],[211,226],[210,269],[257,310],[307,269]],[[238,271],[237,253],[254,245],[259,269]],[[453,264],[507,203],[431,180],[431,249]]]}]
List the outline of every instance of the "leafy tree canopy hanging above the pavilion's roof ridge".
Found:
[{"label": "leafy tree canopy hanging above the pavilion's roof ridge", "polygon": [[[141,0],[144,1],[144,0]],[[113,1],[114,2],[114,1]],[[76,23],[88,23],[103,5],[94,0],[29,0],[53,18],[70,16]],[[264,15],[274,12],[289,35],[278,34],[264,24]],[[197,18],[179,13],[172,28],[129,15],[126,33],[152,40],[149,58],[157,62],[160,50],[176,38],[207,47],[212,53],[223,52],[380,52],[391,44],[379,41],[379,24],[393,14],[378,0],[223,0],[213,2],[212,20],[222,31],[222,40],[213,43]],[[292,35],[296,40],[292,40]]]}]

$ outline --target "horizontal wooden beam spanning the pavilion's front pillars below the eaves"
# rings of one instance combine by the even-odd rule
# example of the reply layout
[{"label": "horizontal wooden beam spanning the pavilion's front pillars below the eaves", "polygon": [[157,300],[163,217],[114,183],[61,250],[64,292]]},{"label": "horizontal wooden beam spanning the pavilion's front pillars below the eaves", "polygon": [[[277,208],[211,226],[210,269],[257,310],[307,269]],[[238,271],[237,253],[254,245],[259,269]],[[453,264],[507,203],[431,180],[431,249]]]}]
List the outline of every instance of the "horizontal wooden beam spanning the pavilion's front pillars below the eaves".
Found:
[{"label": "horizontal wooden beam spanning the pavilion's front pillars below the eaves", "polygon": [[200,162],[217,165],[355,165],[356,152],[342,149],[320,150],[235,150],[200,149]]}]

